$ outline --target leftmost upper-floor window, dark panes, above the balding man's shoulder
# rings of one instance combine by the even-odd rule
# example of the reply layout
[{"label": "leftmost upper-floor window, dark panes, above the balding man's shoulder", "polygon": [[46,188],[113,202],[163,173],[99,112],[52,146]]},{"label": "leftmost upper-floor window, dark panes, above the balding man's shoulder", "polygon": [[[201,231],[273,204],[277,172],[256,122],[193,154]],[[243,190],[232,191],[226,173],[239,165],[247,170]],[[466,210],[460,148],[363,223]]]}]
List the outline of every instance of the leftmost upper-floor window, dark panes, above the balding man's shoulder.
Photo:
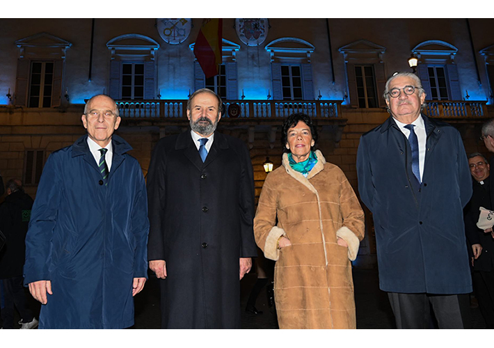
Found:
[{"label": "leftmost upper-floor window, dark panes, above the balding man's shoulder", "polygon": [[53,89],[53,62],[31,62],[29,81],[29,107],[49,108]]}]

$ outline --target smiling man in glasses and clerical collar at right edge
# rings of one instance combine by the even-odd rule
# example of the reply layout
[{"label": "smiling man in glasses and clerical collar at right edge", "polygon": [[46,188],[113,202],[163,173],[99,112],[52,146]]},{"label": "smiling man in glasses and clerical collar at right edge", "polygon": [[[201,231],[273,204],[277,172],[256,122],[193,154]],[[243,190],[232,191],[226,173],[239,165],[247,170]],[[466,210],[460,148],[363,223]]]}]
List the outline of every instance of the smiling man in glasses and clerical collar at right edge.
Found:
[{"label": "smiling man in glasses and clerical collar at right edge", "polygon": [[468,156],[472,172],[472,199],[465,207],[465,233],[472,262],[472,283],[486,329],[494,329],[494,239],[477,227],[479,208],[492,210],[490,166],[479,152]]}]

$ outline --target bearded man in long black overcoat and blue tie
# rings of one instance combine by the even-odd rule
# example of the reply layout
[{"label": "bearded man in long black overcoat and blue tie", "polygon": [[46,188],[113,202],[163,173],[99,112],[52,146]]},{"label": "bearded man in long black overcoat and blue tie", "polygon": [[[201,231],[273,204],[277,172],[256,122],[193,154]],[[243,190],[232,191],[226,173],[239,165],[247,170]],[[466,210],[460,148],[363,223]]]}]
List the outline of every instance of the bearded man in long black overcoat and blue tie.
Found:
[{"label": "bearded man in long black overcoat and blue tie", "polygon": [[221,98],[196,90],[188,131],[161,139],[148,171],[150,269],[164,329],[238,329],[239,280],[257,255],[246,145],[215,132]]}]

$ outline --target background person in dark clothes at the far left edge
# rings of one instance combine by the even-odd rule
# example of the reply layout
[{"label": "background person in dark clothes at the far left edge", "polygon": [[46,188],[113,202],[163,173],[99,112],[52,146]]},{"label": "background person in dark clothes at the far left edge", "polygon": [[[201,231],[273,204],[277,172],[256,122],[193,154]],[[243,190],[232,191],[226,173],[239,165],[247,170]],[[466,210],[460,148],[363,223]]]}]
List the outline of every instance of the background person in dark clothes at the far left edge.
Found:
[{"label": "background person in dark clothes at the far left edge", "polygon": [[3,329],[14,329],[14,307],[21,316],[21,329],[35,329],[38,319],[27,306],[22,286],[22,267],[26,232],[33,207],[33,198],[24,192],[22,181],[10,179],[7,196],[0,205],[0,230],[8,241],[0,250],[0,281],[2,285],[1,317]]}]

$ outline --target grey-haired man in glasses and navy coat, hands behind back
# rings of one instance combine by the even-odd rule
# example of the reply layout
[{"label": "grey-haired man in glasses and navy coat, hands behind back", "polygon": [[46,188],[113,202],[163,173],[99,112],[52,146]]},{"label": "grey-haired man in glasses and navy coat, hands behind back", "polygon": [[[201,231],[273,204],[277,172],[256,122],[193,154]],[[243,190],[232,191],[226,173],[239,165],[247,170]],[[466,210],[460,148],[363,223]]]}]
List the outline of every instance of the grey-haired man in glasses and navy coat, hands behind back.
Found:
[{"label": "grey-haired man in glasses and navy coat, hands behind back", "polygon": [[[459,132],[420,113],[415,74],[388,79],[390,118],[360,138],[358,191],[376,231],[379,282],[398,329],[463,329],[472,292],[463,207],[472,196]],[[465,302],[466,299],[466,302]]]}]

